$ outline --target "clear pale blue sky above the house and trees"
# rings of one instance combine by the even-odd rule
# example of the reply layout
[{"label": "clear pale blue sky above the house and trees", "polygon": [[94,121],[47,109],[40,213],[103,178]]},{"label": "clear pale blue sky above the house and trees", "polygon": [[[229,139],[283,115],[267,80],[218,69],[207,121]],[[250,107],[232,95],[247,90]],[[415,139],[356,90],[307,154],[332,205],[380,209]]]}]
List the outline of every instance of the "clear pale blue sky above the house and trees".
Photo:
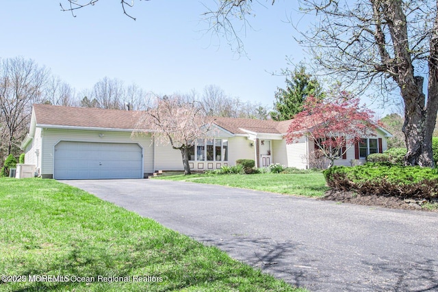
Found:
[{"label": "clear pale blue sky above the house and trees", "polygon": [[[201,93],[217,85],[229,96],[272,107],[274,92],[285,87],[282,68],[308,59],[289,23],[304,21],[296,1],[260,1],[251,27],[241,34],[246,55],[237,55],[225,38],[201,21],[214,0],[133,0],[123,14],[120,1],[62,12],[57,1],[3,1],[0,57],[22,56],[46,66],[77,92],[103,77],[136,83],[155,94]],[[301,25],[305,27],[305,25]],[[274,74],[273,74],[274,73]],[[376,114],[383,109],[370,106]]]}]

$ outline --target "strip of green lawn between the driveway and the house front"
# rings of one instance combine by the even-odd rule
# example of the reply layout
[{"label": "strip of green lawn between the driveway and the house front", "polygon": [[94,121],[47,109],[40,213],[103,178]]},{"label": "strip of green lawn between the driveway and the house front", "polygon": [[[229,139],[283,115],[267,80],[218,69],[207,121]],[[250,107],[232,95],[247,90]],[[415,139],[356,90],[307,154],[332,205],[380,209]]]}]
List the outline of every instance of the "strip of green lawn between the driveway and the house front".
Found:
[{"label": "strip of green lawn between the driveway and the house front", "polygon": [[163,176],[159,179],[171,181],[190,181],[193,183],[209,183],[270,191],[272,193],[290,194],[296,196],[321,197],[326,187],[324,175],[320,172],[307,174],[191,174],[190,176]]}]

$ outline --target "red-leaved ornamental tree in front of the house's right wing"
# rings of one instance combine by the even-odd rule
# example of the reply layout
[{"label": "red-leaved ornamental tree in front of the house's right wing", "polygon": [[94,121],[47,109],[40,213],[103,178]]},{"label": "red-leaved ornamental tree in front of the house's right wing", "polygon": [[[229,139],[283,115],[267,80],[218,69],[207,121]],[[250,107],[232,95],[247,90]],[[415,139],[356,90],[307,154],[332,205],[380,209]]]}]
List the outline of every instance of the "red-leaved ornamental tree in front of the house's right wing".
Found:
[{"label": "red-leaved ornamental tree in front of the house's right wing", "polygon": [[361,137],[374,135],[376,129],[371,122],[372,111],[360,107],[359,98],[322,101],[309,96],[303,109],[289,124],[286,142],[291,144],[307,135],[315,142],[318,152],[329,159],[329,168],[335,159],[346,155],[347,150],[358,143]]}]

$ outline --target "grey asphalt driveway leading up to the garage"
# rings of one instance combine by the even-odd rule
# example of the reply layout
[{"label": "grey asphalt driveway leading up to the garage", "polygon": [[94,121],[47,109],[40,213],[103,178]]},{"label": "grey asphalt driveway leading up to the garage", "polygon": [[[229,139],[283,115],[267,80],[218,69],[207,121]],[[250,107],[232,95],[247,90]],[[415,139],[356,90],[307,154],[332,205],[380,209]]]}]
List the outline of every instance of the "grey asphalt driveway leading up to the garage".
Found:
[{"label": "grey asphalt driveway leading up to the garage", "polygon": [[438,213],[196,183],[62,182],[311,291],[438,291]]}]

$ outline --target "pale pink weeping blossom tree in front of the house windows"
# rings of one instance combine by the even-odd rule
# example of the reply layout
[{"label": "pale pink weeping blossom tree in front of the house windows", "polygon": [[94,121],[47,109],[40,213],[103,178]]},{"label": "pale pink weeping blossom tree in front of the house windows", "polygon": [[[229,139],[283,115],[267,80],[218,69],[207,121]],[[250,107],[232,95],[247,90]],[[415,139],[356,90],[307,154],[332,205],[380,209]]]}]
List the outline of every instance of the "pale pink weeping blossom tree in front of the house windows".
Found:
[{"label": "pale pink weeping blossom tree in front of the house windows", "polygon": [[211,122],[196,102],[183,96],[164,96],[157,97],[153,106],[142,112],[134,133],[152,130],[152,137],[181,150],[184,174],[190,174],[189,148],[194,146],[196,139],[207,137]]}]

